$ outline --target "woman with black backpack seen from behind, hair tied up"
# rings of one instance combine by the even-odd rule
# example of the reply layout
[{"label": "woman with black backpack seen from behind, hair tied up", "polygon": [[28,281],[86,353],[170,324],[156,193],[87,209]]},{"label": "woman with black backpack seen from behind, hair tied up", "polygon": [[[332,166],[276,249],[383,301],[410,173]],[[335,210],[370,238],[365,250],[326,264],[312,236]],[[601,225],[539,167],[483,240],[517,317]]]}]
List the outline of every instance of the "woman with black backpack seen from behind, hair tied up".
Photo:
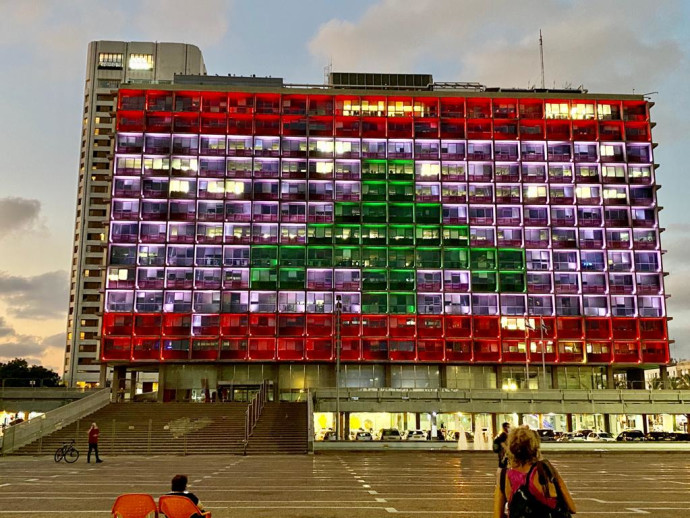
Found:
[{"label": "woman with black backpack seen from behind, hair tied up", "polygon": [[506,449],[509,467],[498,470],[494,518],[568,518],[576,512],[560,474],[541,459],[536,432],[527,426],[512,429]]}]

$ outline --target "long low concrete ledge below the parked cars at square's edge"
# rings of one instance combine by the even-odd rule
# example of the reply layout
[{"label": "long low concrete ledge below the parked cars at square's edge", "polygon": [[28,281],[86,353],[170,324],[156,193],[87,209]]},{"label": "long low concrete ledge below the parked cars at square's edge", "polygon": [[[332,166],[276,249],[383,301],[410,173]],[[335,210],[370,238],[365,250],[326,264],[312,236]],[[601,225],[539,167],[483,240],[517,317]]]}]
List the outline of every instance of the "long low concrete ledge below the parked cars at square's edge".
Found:
[{"label": "long low concrete ledge below the parked cars at square's edge", "polygon": [[[617,453],[617,452],[690,452],[690,442],[547,442],[543,443],[544,452],[589,452],[589,453]],[[441,441],[315,441],[314,452],[329,451],[441,451],[448,453],[486,453],[495,455],[491,450],[475,450],[470,446],[467,450],[458,450],[454,442]]]}]

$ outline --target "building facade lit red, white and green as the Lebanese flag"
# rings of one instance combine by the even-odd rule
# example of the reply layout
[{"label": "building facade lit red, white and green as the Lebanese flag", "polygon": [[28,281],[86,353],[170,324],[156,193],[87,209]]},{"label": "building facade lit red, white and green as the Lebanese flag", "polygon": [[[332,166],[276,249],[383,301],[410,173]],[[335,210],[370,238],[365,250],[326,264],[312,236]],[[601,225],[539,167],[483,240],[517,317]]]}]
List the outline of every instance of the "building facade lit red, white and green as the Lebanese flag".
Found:
[{"label": "building facade lit red, white and green as the Lebanese flag", "polygon": [[605,388],[668,362],[642,96],[213,79],[119,90],[103,362],[332,386],[338,298],[347,386]]}]

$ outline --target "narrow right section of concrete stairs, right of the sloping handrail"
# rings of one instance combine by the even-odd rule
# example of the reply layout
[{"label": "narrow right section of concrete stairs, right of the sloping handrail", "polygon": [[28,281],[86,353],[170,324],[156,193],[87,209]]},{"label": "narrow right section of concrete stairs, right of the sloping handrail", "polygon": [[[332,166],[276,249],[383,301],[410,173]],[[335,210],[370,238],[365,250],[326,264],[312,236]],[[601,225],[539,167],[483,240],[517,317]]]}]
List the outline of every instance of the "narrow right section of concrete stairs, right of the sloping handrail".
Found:
[{"label": "narrow right section of concrete stairs, right of the sloping handrail", "polygon": [[266,403],[247,455],[307,453],[307,404]]}]

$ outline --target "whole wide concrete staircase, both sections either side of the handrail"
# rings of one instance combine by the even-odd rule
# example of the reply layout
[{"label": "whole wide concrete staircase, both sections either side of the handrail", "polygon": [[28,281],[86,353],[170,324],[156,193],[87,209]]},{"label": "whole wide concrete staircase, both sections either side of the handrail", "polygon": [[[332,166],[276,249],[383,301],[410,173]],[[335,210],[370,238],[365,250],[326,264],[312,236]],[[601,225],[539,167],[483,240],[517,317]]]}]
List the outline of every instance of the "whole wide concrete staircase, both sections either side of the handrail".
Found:
[{"label": "whole wide concrete staircase, both sections either side of the handrail", "polygon": [[[112,455],[242,455],[246,403],[111,403],[15,455],[52,455],[76,438],[88,451],[92,422],[101,430],[98,450]],[[246,453],[307,452],[306,403],[266,403]]]}]

